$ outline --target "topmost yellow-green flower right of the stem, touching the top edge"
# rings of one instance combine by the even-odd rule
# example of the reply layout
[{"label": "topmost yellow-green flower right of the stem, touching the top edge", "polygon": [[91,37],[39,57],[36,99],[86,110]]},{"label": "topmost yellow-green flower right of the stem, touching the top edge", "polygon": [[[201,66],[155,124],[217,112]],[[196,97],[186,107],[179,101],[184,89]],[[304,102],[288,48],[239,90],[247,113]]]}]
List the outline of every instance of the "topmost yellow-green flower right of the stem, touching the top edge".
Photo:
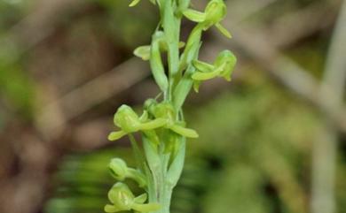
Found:
[{"label": "topmost yellow-green flower right of the stem, touching the top edge", "polygon": [[183,14],[187,19],[198,22],[203,30],[208,30],[209,27],[215,27],[227,38],[232,38],[232,35],[224,28],[220,21],[224,19],[227,13],[226,5],[223,0],[211,0],[204,12],[186,9]]}]

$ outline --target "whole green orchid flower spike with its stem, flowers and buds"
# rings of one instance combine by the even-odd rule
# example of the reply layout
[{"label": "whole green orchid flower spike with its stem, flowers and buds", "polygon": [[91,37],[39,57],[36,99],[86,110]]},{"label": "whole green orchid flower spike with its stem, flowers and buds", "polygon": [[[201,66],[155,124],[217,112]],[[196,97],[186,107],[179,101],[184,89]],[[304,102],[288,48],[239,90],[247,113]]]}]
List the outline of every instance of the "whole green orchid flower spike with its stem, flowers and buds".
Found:
[{"label": "whole green orchid flower spike with its stem, flowers and buds", "polygon": [[[130,168],[122,159],[109,164],[117,183],[108,193],[108,213],[133,210],[135,212],[169,213],[171,194],[183,171],[186,138],[197,138],[198,133],[186,127],[182,106],[192,88],[198,92],[201,82],[221,77],[231,80],[236,57],[229,50],[216,56],[213,63],[199,60],[201,35],[216,27],[226,37],[231,34],[220,24],[226,15],[223,0],[211,0],[204,11],[190,8],[190,0],[150,0],[160,10],[161,20],[150,45],[138,47],[134,54],[148,60],[153,79],[161,90],[148,99],[138,115],[130,106],[122,105],[114,115],[118,130],[109,134],[110,141],[128,136],[134,150],[137,168]],[[134,0],[130,6],[135,6]],[[180,41],[182,19],[196,25],[186,42]],[[162,55],[167,55],[167,68]],[[134,133],[139,133],[140,148]],[[132,179],[143,194],[134,195],[124,181]]]}]

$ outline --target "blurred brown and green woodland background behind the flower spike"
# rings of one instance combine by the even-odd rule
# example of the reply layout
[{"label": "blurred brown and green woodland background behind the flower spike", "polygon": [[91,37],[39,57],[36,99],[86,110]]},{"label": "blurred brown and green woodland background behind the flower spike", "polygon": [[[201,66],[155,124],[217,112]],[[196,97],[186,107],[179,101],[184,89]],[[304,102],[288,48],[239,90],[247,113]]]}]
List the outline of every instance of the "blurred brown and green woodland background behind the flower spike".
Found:
[{"label": "blurred brown and green woodland background behind the flower spike", "polygon": [[[196,0],[202,9],[207,1]],[[114,184],[106,141],[122,103],[158,93],[132,50],[150,42],[149,1],[0,0],[0,212],[100,213]],[[172,213],[346,212],[346,3],[227,0],[239,58],[185,105],[189,141]],[[185,21],[185,39],[193,27]]]}]

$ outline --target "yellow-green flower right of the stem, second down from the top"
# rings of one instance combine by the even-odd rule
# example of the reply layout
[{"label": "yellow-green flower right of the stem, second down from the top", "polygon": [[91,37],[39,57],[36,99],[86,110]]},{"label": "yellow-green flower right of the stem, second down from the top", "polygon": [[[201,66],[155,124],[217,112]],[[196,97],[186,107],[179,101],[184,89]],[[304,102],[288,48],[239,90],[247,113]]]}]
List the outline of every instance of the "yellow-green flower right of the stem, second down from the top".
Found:
[{"label": "yellow-green flower right of the stem, second down from the top", "polygon": [[222,77],[227,81],[231,80],[231,75],[237,58],[230,50],[224,50],[216,57],[213,65],[199,60],[193,61],[193,66],[197,72],[193,73],[194,89],[198,91],[201,80],[210,80],[216,77]]}]

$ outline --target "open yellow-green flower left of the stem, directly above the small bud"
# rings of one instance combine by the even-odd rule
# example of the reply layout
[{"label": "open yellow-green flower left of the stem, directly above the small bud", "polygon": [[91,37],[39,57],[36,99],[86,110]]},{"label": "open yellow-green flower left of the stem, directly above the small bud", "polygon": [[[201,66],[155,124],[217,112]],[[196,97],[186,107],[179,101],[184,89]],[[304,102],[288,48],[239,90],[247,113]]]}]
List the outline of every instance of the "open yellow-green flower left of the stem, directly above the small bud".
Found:
[{"label": "open yellow-green flower left of the stem, directly above the small bud", "polygon": [[166,120],[163,118],[147,120],[146,116],[146,112],[144,112],[139,118],[130,106],[123,104],[114,115],[114,125],[121,128],[121,130],[110,133],[108,140],[116,141],[128,133],[150,131],[166,125]]}]

